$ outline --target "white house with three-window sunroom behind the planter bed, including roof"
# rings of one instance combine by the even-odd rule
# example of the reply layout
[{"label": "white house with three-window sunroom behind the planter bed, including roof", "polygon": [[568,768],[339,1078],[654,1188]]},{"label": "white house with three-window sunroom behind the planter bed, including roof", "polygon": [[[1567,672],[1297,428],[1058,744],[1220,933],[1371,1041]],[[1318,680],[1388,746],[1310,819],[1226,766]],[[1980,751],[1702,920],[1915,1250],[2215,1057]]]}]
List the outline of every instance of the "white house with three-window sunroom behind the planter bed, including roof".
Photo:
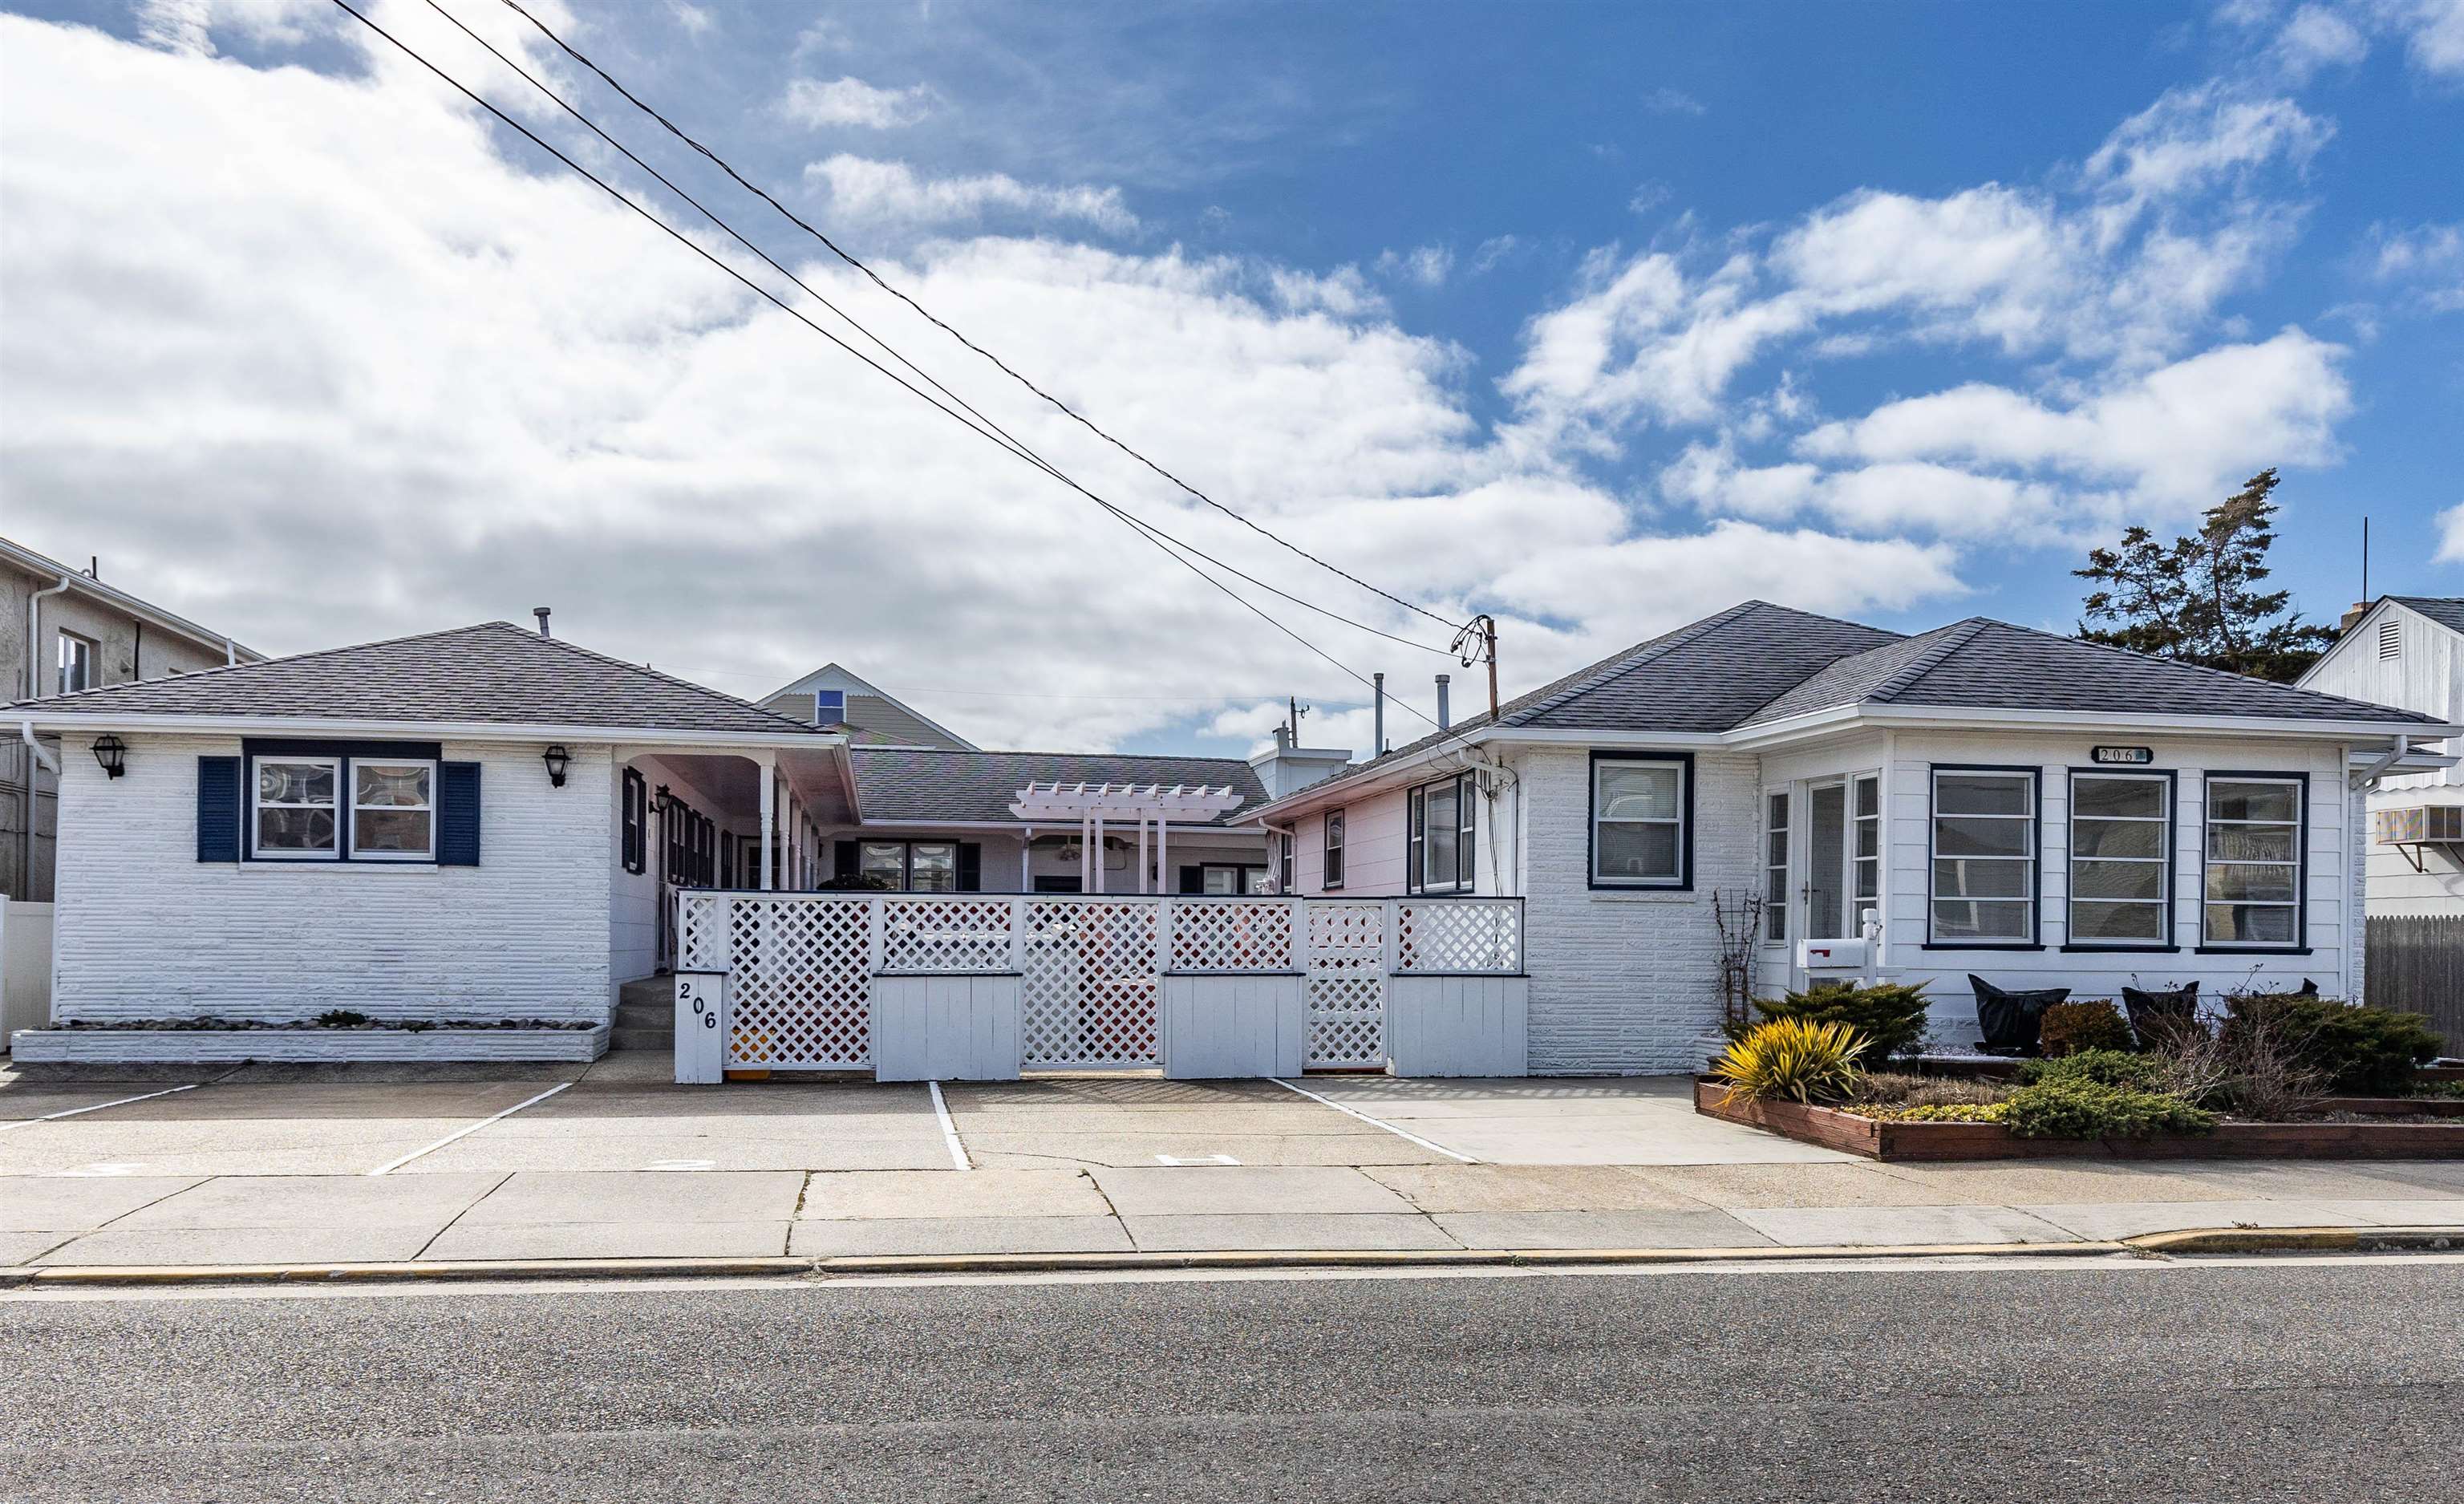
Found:
[{"label": "white house with three-window sunroom behind the planter bed, including roof", "polygon": [[2459,730],[1998,621],[1747,602],[1252,819],[1303,895],[1523,897],[1535,1073],[1685,1070],[1720,1018],[1715,895],[1769,900],[1762,996],[1870,910],[1870,964],[1927,984],[1944,1045],[1976,1038],[1969,974],[2358,999],[2361,787]]}]

